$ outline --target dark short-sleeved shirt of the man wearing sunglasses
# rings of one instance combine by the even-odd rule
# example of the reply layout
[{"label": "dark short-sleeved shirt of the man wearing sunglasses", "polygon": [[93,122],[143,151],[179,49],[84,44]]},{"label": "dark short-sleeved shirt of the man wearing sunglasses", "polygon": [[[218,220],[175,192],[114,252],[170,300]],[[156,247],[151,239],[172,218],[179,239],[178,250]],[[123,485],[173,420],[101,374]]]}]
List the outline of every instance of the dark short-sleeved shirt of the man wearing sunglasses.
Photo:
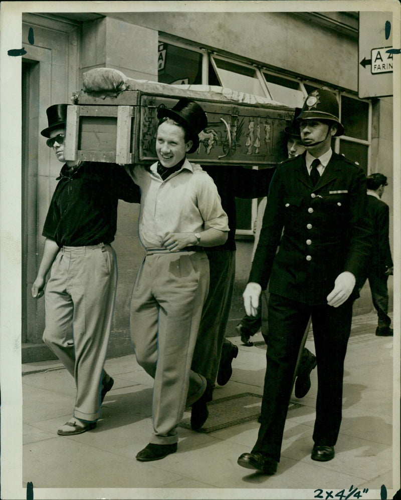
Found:
[{"label": "dark short-sleeved shirt of the man wearing sunglasses", "polygon": [[140,202],[139,187],[115,163],[83,162],[72,173],[64,165],[57,179],[42,234],[58,246],[111,243],[118,200]]}]

